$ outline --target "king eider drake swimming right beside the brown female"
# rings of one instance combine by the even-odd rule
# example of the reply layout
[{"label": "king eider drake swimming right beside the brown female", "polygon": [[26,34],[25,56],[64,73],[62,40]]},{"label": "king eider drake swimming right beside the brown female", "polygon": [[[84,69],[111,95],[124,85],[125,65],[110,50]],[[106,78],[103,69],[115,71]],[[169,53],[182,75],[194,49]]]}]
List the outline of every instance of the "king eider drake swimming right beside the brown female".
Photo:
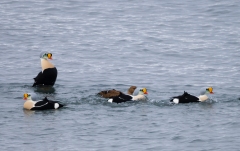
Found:
[{"label": "king eider drake swimming right beside the brown female", "polygon": [[139,90],[139,93],[136,96],[121,93],[119,96],[109,99],[108,102],[122,103],[127,101],[146,101],[147,100],[147,97],[145,96],[146,94],[148,94],[147,89],[143,88]]}]

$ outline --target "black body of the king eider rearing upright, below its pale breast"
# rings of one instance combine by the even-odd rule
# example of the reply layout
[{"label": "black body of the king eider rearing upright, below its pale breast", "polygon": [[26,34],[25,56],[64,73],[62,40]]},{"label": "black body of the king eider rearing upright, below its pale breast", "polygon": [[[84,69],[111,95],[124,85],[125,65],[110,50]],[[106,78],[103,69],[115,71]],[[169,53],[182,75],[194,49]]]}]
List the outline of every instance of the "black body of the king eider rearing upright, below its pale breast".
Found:
[{"label": "black body of the king eider rearing upright, below its pale breast", "polygon": [[37,85],[51,85],[55,84],[57,79],[57,68],[48,68],[45,69],[43,72],[39,72],[35,80],[33,87]]}]

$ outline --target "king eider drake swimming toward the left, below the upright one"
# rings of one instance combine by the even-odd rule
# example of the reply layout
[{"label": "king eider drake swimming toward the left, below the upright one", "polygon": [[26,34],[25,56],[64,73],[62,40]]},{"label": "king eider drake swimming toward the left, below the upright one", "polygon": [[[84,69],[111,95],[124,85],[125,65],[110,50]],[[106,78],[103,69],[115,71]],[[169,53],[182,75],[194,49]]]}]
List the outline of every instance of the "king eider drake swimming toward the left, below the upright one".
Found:
[{"label": "king eider drake swimming toward the left, below the upright one", "polygon": [[47,110],[58,109],[63,107],[62,104],[58,103],[57,101],[48,100],[47,97],[40,101],[33,101],[31,94],[29,93],[24,93],[23,99],[26,100],[26,102],[23,105],[23,108],[27,110]]}]

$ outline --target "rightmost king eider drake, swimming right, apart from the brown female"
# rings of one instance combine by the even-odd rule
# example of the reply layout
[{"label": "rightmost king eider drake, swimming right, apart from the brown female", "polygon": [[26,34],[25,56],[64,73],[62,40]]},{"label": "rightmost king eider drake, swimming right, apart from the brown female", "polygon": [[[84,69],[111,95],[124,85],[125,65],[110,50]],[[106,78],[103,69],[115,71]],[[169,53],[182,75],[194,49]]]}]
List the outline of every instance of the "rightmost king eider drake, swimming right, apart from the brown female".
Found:
[{"label": "rightmost king eider drake, swimming right, apart from the brown female", "polygon": [[190,102],[204,102],[208,99],[207,94],[213,94],[213,88],[203,88],[200,92],[200,96],[196,97],[188,94],[184,91],[183,95],[172,97],[170,102],[178,104],[178,103],[190,103]]}]

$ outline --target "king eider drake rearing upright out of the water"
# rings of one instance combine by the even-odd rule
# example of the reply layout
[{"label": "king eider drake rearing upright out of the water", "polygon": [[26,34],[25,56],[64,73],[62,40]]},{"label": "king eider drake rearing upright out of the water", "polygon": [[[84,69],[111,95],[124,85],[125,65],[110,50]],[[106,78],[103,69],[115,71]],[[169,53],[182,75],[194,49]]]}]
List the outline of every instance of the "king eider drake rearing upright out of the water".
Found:
[{"label": "king eider drake rearing upright out of the water", "polygon": [[54,67],[54,65],[48,61],[48,59],[52,60],[52,54],[42,52],[40,54],[40,59],[42,71],[39,72],[37,77],[33,78],[34,79],[33,87],[42,85],[53,86],[57,79],[57,68]]}]

